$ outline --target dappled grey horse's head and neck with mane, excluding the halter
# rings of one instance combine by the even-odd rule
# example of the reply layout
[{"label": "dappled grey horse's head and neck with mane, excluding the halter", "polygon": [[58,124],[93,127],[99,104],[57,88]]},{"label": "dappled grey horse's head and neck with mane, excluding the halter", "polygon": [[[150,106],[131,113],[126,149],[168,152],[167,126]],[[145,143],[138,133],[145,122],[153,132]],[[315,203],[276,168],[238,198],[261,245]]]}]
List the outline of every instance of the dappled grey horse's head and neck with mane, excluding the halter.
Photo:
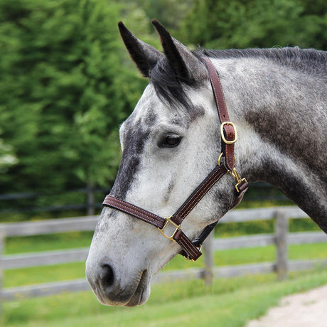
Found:
[{"label": "dappled grey horse's head and neck with mane, excluding the halter", "polygon": [[[121,207],[104,206],[86,262],[92,290],[111,306],[149,299],[151,278],[181,252],[181,243],[173,242],[177,233],[183,230],[193,240],[215,225],[239,202],[235,179],[241,175],[279,188],[327,233],[327,53],[298,47],[191,51],[159,21],[152,23],[164,53],[119,22],[149,85],[119,130],[122,159],[109,197],[122,200]],[[232,139],[237,176],[230,170],[220,176],[182,224],[165,218],[159,228],[163,237],[154,223],[144,221],[151,213],[154,218],[175,213],[223,152],[225,123],[218,117],[205,59],[218,72],[237,128],[237,142]],[[150,218],[135,219],[136,212]]]}]

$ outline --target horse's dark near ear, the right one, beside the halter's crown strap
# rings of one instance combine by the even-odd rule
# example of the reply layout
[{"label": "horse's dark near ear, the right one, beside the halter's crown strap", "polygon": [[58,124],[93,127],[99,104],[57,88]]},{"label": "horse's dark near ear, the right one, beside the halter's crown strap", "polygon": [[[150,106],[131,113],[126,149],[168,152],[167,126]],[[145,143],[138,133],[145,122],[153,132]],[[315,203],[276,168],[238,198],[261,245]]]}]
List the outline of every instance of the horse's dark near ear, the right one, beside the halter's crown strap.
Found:
[{"label": "horse's dark near ear, the right one, beside the halter's crown strap", "polygon": [[176,75],[188,82],[205,79],[208,75],[205,65],[193,55],[191,50],[173,38],[159,21],[153,19],[151,23],[160,36],[168,63]]}]

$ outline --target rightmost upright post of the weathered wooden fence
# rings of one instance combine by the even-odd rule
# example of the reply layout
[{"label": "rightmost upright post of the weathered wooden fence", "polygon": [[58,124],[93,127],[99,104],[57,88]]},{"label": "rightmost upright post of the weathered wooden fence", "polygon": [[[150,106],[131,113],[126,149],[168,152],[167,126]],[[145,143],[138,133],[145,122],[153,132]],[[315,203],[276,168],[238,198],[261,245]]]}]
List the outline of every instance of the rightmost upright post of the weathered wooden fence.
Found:
[{"label": "rightmost upright post of the weathered wooden fence", "polygon": [[289,231],[289,220],[283,210],[276,212],[276,272],[279,280],[288,277],[288,249],[287,249],[287,233]]}]

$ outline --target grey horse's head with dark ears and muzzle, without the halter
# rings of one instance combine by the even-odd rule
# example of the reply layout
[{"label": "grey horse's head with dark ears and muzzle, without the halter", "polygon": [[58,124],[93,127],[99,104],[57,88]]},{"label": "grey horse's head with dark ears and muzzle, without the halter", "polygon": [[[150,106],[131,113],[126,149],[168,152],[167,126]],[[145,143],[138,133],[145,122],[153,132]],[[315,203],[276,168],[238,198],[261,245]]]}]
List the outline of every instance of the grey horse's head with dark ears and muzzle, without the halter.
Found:
[{"label": "grey horse's head with dark ears and muzzle, without the halter", "polygon": [[[164,54],[119,23],[129,54],[150,83],[120,127],[122,161],[110,195],[168,217],[217,165],[220,122],[202,60],[158,21],[153,24]],[[188,237],[232,208],[234,184],[224,176],[198,203],[182,224]],[[151,277],[180,251],[156,227],[104,208],[87,258],[87,279],[103,304],[143,304]]]}]

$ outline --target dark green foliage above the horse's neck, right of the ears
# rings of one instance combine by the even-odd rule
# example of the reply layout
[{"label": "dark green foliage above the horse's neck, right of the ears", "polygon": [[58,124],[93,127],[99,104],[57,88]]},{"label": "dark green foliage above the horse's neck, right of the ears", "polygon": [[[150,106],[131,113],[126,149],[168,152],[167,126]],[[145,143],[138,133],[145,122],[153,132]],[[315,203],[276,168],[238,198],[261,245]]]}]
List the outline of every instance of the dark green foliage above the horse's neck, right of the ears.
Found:
[{"label": "dark green foliage above the horse's neck, right of the ears", "polygon": [[309,0],[194,0],[181,37],[206,48],[299,45],[327,48],[327,3]]}]

